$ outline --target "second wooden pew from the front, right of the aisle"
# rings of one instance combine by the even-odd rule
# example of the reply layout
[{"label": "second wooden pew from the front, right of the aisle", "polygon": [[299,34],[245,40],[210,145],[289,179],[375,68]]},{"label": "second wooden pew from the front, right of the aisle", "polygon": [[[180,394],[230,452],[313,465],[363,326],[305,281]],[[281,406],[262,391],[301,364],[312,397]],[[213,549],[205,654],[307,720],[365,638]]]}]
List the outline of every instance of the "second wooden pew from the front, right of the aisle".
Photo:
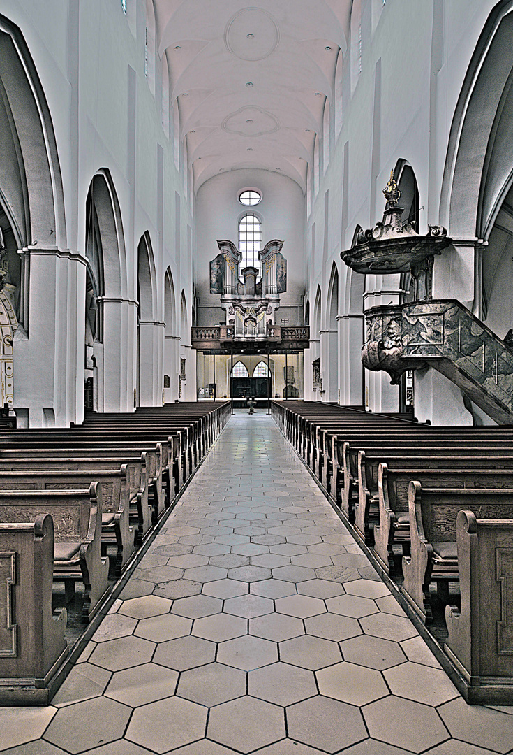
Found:
[{"label": "second wooden pew from the front, right of the aisle", "polygon": [[422,488],[412,480],[408,488],[411,555],[403,556],[402,593],[417,615],[432,621],[429,585],[447,604],[448,584],[459,579],[456,522],[460,510],[478,519],[513,519],[513,488]]}]

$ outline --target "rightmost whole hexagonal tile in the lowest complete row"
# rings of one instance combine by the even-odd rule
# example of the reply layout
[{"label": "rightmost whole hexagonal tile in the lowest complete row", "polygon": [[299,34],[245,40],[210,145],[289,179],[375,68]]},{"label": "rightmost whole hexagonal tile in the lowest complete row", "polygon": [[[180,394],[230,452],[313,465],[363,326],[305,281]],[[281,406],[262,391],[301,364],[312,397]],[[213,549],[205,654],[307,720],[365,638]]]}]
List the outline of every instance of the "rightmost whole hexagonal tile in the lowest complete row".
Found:
[{"label": "rightmost whole hexagonal tile in the lowest complete row", "polygon": [[428,705],[388,695],[366,705],[362,713],[371,737],[414,753],[447,739],[447,729]]}]

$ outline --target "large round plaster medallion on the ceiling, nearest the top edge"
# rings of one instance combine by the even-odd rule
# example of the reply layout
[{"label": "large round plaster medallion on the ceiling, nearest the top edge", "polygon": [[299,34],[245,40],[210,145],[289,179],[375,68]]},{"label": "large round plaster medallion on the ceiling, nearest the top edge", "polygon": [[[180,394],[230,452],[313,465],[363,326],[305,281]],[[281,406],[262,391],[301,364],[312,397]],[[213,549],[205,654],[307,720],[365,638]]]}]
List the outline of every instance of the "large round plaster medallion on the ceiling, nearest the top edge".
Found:
[{"label": "large round plaster medallion on the ceiling, nearest the top edge", "polygon": [[237,11],[224,29],[224,45],[240,60],[264,60],[273,54],[278,44],[276,21],[261,8]]}]

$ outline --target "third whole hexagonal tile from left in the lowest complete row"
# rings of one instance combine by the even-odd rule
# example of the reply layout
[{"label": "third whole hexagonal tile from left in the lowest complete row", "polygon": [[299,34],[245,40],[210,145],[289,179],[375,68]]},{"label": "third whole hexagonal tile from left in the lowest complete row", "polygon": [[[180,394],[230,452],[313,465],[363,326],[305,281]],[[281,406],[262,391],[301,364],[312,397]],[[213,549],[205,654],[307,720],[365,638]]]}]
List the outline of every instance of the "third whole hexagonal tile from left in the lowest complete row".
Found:
[{"label": "third whole hexagonal tile from left in the lowest complete row", "polygon": [[252,697],[237,698],[212,708],[206,735],[249,753],[285,737],[283,710]]}]

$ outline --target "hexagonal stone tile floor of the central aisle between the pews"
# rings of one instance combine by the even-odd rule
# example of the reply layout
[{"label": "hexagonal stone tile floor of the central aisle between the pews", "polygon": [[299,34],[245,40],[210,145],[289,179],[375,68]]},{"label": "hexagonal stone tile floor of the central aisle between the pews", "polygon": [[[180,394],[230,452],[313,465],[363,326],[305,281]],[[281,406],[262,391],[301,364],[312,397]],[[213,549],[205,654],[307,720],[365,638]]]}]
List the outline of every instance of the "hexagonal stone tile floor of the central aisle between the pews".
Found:
[{"label": "hexagonal stone tile floor of the central aisle between the pews", "polygon": [[469,707],[266,414],[236,414],[5,755],[490,755]]}]

